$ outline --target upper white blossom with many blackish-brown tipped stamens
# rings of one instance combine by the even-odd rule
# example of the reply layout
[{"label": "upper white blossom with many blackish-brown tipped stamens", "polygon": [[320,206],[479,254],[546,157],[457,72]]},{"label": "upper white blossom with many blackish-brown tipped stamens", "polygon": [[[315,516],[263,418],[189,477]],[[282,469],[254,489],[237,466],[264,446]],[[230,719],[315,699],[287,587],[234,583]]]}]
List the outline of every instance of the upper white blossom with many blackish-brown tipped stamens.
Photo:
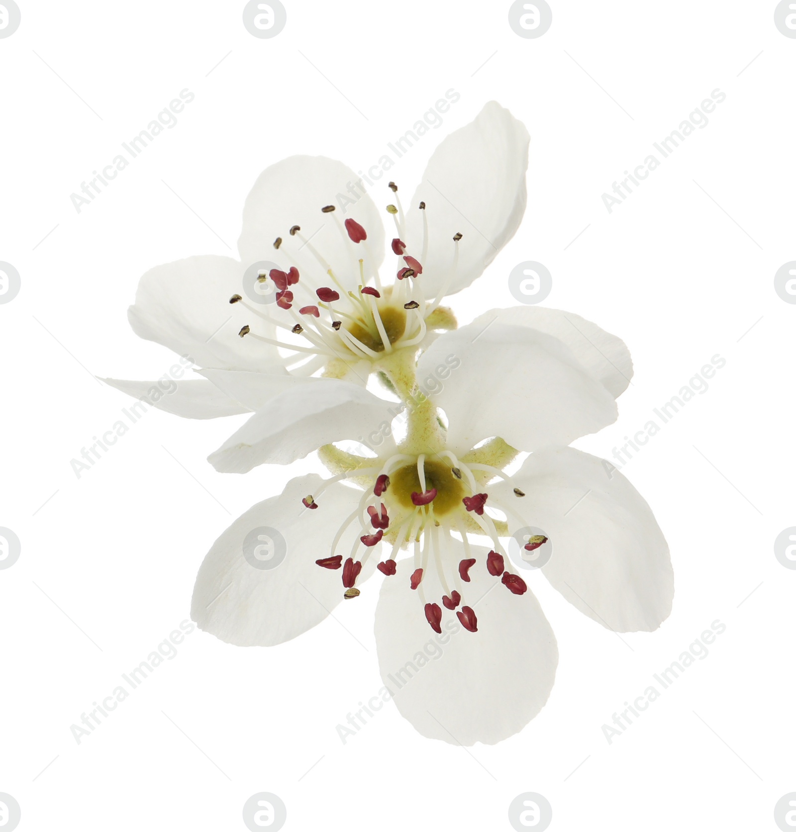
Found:
[{"label": "upper white blossom with many blackish-brown tipped stamens", "polygon": [[[205,377],[177,382],[152,404],[190,418],[253,412],[231,438],[248,442],[274,411],[311,416],[298,409],[308,398],[331,406],[341,388],[327,379],[364,388],[371,372],[404,362],[455,328],[440,303],[470,285],[520,225],[529,141],[525,126],[490,102],[436,149],[406,212],[396,186],[388,191],[385,183],[396,222],[389,280],[380,275],[381,215],[354,171],[322,156],[292,156],[263,171],[244,206],[240,260],[191,257],[141,279],[132,328],[189,355]],[[243,277],[266,261],[279,267],[263,284],[277,300],[258,305]],[[105,380],[136,397],[157,387]],[[378,399],[364,389],[358,398],[348,394],[356,405],[338,412],[345,413],[346,438],[356,438]],[[319,436],[312,449],[333,438]],[[292,458],[286,451],[278,461]],[[236,470],[264,461],[252,453]]]}]

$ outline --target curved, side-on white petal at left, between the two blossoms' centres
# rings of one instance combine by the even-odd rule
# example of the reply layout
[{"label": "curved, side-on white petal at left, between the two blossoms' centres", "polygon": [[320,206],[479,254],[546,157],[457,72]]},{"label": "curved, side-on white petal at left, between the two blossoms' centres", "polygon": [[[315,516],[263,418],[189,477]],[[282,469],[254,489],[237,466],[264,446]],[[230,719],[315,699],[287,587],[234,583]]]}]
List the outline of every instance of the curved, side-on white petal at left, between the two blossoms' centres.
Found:
[{"label": "curved, side-on white petal at left, between the two blossoms' centres", "polygon": [[384,455],[385,448],[394,447],[388,433],[391,408],[396,405],[356,384],[317,379],[275,396],[207,459],[216,471],[246,473],[262,463],[286,465],[321,445],[374,433],[381,438],[374,443],[371,436],[370,444]]}]

